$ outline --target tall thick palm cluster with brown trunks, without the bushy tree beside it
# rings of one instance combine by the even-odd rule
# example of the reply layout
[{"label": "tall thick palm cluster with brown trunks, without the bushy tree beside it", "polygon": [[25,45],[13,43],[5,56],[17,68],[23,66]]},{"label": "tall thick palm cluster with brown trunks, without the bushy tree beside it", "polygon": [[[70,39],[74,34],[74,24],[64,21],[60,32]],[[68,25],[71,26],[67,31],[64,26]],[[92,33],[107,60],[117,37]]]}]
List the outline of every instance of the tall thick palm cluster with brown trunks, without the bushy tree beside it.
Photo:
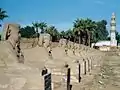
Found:
[{"label": "tall thick palm cluster with brown trunks, without the bushy tree beside it", "polygon": [[79,43],[88,45],[88,40],[90,40],[90,32],[94,32],[96,28],[95,21],[92,21],[91,19],[77,19],[74,22],[74,32],[76,33],[76,36],[79,37]]}]

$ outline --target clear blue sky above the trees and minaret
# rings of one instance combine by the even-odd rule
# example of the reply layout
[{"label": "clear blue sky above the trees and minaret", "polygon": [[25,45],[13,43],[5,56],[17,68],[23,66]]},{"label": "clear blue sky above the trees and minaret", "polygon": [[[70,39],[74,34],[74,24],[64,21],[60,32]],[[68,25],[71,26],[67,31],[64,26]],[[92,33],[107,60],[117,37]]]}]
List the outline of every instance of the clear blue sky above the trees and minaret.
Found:
[{"label": "clear blue sky above the trees and minaret", "polygon": [[4,22],[30,25],[44,21],[59,30],[71,28],[76,18],[105,19],[109,25],[115,12],[120,31],[120,0],[0,0],[0,7],[9,15]]}]

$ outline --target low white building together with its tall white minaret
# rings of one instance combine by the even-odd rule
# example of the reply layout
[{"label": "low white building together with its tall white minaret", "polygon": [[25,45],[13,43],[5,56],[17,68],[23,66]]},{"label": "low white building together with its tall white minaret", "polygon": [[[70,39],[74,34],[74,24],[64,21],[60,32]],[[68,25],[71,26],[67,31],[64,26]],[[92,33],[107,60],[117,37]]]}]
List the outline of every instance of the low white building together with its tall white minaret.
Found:
[{"label": "low white building together with its tall white minaret", "polygon": [[109,51],[110,47],[117,47],[115,13],[112,13],[110,22],[110,41],[98,41],[93,43],[92,47],[101,51]]}]

